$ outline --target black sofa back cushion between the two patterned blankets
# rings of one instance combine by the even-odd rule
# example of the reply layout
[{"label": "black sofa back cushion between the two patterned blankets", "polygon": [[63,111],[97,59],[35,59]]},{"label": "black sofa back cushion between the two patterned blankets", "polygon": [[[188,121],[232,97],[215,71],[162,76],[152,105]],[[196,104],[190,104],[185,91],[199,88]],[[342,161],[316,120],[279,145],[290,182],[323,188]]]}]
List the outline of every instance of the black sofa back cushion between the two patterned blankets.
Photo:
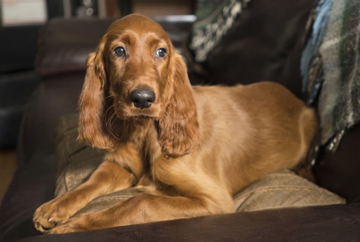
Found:
[{"label": "black sofa back cushion between the two patterned blankets", "polygon": [[270,80],[300,97],[302,35],[313,4],[314,0],[251,1],[200,63],[204,82],[233,85]]}]

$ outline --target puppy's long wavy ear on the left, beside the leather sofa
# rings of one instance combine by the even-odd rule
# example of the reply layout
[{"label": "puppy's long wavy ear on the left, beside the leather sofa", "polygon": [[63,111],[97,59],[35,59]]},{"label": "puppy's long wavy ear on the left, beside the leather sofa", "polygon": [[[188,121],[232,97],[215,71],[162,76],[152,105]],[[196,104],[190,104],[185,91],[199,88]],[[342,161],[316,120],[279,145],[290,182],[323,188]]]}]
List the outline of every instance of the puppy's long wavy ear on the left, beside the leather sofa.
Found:
[{"label": "puppy's long wavy ear on the left, beside the leather sofa", "polygon": [[111,150],[115,146],[114,140],[103,127],[106,81],[102,57],[104,46],[104,41],[101,41],[96,53],[90,53],[86,62],[85,81],[79,99],[78,140],[99,149]]}]

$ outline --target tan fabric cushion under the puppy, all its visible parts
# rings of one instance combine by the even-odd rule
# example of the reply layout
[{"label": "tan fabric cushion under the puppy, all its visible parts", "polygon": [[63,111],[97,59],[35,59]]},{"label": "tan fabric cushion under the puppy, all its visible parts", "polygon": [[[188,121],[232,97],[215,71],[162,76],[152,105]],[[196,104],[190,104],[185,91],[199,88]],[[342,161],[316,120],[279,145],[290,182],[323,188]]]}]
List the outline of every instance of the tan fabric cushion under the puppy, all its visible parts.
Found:
[{"label": "tan fabric cushion under the puppy, all its visible parts", "polygon": [[[104,151],[77,142],[78,114],[61,117],[56,134],[57,183],[55,197],[84,182],[101,163]],[[90,212],[121,202],[141,189],[129,188],[95,198],[83,209]],[[341,197],[297,176],[289,170],[269,174],[234,196],[236,211],[254,211],[279,207],[301,207],[344,203]]]}]

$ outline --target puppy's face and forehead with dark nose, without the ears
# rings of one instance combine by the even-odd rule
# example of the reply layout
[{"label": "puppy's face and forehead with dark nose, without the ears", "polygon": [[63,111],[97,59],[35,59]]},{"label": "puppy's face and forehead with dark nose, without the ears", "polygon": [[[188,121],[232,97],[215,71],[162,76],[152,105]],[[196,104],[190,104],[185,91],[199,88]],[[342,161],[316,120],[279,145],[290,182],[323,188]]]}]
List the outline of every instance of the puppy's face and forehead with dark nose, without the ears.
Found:
[{"label": "puppy's face and forehead with dark nose, without the ears", "polygon": [[131,15],[105,34],[103,58],[108,95],[120,119],[158,119],[166,102],[172,44],[154,21]]}]

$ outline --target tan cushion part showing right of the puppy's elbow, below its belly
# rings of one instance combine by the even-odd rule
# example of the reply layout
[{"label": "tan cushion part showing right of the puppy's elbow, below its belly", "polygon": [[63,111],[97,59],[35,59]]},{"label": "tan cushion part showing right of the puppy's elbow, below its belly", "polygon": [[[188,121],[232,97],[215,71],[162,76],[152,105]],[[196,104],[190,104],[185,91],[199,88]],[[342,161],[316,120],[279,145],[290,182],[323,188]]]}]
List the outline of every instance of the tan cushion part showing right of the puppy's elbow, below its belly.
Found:
[{"label": "tan cushion part showing right of the puppy's elbow, below its belly", "polygon": [[236,211],[345,203],[345,199],[286,169],[260,178],[234,200]]}]

